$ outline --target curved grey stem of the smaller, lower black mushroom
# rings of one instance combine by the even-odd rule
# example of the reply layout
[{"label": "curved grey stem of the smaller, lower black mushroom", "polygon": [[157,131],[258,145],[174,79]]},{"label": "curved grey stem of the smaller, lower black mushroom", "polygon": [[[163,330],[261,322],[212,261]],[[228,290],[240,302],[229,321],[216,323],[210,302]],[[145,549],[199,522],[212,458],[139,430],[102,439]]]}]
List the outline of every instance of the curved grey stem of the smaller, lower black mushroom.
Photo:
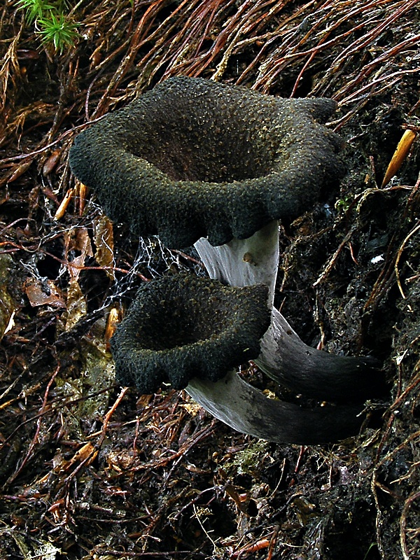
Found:
[{"label": "curved grey stem of the smaller, lower black mushroom", "polygon": [[335,442],[357,433],[363,421],[358,407],[308,409],[267,398],[235,372],[229,372],[216,383],[195,377],[186,390],[204,409],[231,428],[272,442]]}]

